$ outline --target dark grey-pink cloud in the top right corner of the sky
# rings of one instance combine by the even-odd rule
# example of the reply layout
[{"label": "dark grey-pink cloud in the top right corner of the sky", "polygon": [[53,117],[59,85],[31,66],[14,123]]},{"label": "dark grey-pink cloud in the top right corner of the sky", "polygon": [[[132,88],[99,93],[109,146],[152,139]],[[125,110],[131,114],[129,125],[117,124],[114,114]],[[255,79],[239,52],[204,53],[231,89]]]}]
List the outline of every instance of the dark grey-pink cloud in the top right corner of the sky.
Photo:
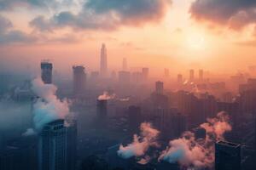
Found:
[{"label": "dark grey-pink cloud in the top right corner of the sky", "polygon": [[239,30],[256,21],[254,0],[195,0],[190,13],[195,20],[206,20]]}]

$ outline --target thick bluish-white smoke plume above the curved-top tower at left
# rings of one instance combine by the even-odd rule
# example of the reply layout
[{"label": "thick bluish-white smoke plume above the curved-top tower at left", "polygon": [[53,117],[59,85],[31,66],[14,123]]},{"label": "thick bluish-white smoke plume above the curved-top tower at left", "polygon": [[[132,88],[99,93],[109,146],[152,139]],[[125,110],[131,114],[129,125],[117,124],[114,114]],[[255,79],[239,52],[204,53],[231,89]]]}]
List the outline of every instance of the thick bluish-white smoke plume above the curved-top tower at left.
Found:
[{"label": "thick bluish-white smoke plume above the curved-top tower at left", "polygon": [[67,100],[58,99],[55,95],[56,90],[55,85],[44,84],[40,78],[32,81],[32,91],[39,97],[33,105],[33,122],[38,131],[45,124],[65,119],[70,114]]}]

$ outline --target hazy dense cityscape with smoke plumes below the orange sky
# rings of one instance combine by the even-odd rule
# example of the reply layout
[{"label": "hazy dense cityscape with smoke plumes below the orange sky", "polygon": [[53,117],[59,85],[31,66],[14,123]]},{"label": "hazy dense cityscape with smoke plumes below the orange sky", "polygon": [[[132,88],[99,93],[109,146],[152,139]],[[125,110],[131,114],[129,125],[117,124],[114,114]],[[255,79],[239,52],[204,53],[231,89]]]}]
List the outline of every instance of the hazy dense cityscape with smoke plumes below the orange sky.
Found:
[{"label": "hazy dense cityscape with smoke plumes below the orange sky", "polygon": [[26,111],[1,128],[1,170],[255,169],[256,66],[218,81],[191,69],[174,81],[167,68],[155,80],[128,63],[109,74],[102,44],[100,71],[73,65],[71,82],[47,59],[41,77],[1,75],[1,110]]}]

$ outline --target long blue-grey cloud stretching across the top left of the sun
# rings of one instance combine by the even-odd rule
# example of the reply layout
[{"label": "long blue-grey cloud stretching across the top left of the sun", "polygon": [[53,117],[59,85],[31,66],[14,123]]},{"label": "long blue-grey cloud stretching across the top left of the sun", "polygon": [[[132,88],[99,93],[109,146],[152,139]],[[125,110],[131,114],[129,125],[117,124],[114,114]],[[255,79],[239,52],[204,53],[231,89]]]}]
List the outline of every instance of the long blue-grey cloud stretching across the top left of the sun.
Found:
[{"label": "long blue-grey cloud stretching across the top left of the sun", "polygon": [[112,31],[119,26],[141,26],[160,21],[170,5],[171,0],[108,0],[108,3],[89,0],[78,14],[62,11],[48,19],[40,15],[30,22],[30,26],[39,31],[53,31],[62,27]]}]

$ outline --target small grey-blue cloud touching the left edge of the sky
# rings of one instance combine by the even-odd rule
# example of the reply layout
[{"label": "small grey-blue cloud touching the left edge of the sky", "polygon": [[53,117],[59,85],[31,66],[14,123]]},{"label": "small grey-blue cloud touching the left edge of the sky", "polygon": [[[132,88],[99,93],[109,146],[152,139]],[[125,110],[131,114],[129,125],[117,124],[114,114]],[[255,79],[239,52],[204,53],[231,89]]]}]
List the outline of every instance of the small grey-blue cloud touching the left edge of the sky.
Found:
[{"label": "small grey-blue cloud touching the left edge of the sky", "polygon": [[0,15],[0,44],[35,42],[36,37],[15,30],[10,20]]}]

